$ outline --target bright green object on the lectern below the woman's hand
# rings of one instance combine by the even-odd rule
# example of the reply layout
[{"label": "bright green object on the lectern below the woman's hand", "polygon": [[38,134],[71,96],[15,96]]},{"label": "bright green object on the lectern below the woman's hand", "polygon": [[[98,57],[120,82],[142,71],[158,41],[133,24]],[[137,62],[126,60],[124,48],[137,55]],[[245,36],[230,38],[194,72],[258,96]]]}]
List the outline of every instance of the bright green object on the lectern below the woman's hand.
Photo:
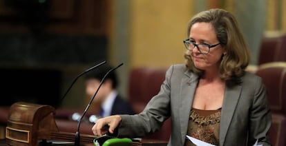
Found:
[{"label": "bright green object on the lectern below the woman's hand", "polygon": [[132,140],[130,138],[110,138],[104,141],[101,145],[97,138],[93,140],[95,146],[131,146]]}]

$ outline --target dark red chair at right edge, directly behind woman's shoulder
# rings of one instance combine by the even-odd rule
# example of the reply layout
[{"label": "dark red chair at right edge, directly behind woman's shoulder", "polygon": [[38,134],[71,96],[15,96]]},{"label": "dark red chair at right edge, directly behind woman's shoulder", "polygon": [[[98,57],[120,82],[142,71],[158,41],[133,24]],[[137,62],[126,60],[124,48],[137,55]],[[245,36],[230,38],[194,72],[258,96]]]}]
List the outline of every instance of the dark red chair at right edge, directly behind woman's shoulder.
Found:
[{"label": "dark red chair at right edge, directly behind woman's shoulder", "polygon": [[272,112],[269,136],[273,145],[286,145],[286,62],[264,63],[256,71],[267,88]]}]

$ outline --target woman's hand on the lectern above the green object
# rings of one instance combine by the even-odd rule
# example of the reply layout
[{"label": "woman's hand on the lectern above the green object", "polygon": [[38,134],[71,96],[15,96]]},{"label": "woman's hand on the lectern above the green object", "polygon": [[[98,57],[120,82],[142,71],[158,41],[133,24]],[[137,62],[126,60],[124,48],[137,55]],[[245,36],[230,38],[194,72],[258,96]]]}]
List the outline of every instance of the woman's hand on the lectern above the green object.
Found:
[{"label": "woman's hand on the lectern above the green object", "polygon": [[[93,134],[95,136],[102,136],[107,132],[113,134],[114,129],[119,125],[122,118],[119,115],[107,116],[105,118],[99,118],[97,123],[93,125]],[[108,125],[108,126],[107,126]]]}]

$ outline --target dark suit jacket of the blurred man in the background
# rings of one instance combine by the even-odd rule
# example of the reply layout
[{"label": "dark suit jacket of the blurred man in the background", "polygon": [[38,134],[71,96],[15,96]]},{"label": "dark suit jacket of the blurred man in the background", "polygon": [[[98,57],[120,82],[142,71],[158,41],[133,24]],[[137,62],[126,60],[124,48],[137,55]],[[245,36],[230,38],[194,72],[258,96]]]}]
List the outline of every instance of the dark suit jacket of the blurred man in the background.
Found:
[{"label": "dark suit jacket of the blurred man in the background", "polygon": [[134,114],[131,105],[119,95],[115,97],[111,110],[111,115],[115,114]]}]

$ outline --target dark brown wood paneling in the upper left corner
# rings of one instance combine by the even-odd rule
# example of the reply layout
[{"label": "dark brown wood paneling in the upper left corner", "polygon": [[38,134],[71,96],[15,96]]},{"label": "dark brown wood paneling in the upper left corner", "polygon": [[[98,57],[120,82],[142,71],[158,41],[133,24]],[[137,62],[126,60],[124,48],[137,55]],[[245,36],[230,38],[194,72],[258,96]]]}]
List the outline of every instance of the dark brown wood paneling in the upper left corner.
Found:
[{"label": "dark brown wood paneling in the upper left corner", "polygon": [[108,1],[0,0],[0,30],[106,35]]}]

